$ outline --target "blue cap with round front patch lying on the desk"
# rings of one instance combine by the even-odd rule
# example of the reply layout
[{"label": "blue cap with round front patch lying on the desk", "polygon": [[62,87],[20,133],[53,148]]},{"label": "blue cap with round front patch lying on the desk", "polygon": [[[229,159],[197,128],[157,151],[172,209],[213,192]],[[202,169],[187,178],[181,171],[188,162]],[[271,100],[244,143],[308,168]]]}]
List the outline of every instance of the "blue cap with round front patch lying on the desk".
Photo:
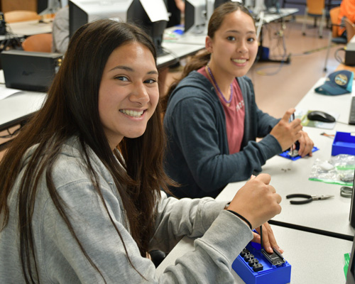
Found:
[{"label": "blue cap with round front patch lying on the desk", "polygon": [[354,73],[349,70],[341,70],[329,74],[322,86],[315,88],[320,94],[349,94],[353,86]]}]

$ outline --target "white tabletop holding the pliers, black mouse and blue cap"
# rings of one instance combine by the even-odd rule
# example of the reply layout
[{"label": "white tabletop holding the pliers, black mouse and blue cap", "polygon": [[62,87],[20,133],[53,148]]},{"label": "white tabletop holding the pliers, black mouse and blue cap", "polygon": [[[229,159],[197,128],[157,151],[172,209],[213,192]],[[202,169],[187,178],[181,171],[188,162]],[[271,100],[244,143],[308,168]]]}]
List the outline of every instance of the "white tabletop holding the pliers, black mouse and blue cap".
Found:
[{"label": "white tabletop holding the pliers, black mouse and blue cap", "polygon": [[[339,121],[347,123],[349,119],[349,108],[351,94],[340,96],[324,96],[313,91],[320,86],[324,79],[319,80],[306,96],[297,104],[296,109],[312,109],[322,111],[335,111],[340,114]],[[355,87],[353,88],[355,92]],[[317,107],[313,107],[317,106]],[[341,185],[330,185],[324,182],[308,180],[310,169],[316,158],[329,160],[332,153],[332,139],[321,136],[320,133],[335,133],[335,131],[355,131],[355,126],[336,124],[335,129],[325,130],[312,127],[305,127],[304,130],[320,148],[313,153],[313,157],[299,160],[288,160],[275,156],[263,165],[263,173],[271,175],[271,184],[283,197],[281,206],[283,211],[275,216],[273,221],[293,224],[296,226],[321,230],[322,234],[343,234],[352,239],[355,230],[349,225],[350,198],[341,197],[339,189]],[[287,169],[286,171],[283,169]],[[288,170],[289,169],[289,170]],[[235,192],[245,182],[233,182],[227,185],[219,195],[222,200],[230,200]],[[334,195],[329,200],[315,200],[308,204],[293,205],[286,200],[286,195],[291,193],[306,193],[310,195]],[[303,228],[303,229],[307,229]],[[344,237],[344,236],[339,236]]]}]

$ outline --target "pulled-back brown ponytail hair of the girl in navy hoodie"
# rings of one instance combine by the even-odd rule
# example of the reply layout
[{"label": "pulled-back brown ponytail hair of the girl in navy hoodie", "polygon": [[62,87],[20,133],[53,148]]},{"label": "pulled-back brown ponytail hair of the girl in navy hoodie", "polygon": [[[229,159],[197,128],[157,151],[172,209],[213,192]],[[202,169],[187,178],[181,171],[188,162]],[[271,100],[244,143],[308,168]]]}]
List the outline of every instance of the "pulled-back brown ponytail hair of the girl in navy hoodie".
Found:
[{"label": "pulled-back brown ponytail hair of the girl in navy hoodie", "polygon": [[[246,9],[246,7],[244,7],[239,2],[226,2],[218,6],[212,13],[211,18],[209,18],[208,31],[207,31],[207,35],[209,36],[209,38],[214,38],[214,33],[216,33],[216,31],[222,25],[224,18],[230,13],[233,13],[235,11],[242,11],[243,13],[246,13],[253,19],[253,16],[249,12],[249,10]],[[210,59],[211,59],[211,53],[209,53],[209,51],[207,50],[202,50],[200,53],[197,53],[195,56],[193,56],[190,59],[187,65],[185,65],[184,70],[182,70],[181,76],[170,85],[167,94],[163,97],[161,101],[164,113],[166,111],[166,108],[168,107],[168,100],[170,94],[173,93],[174,89],[178,86],[180,81],[185,77],[187,77],[187,75],[189,75],[190,72],[194,70],[199,70],[201,67],[207,65]]]}]

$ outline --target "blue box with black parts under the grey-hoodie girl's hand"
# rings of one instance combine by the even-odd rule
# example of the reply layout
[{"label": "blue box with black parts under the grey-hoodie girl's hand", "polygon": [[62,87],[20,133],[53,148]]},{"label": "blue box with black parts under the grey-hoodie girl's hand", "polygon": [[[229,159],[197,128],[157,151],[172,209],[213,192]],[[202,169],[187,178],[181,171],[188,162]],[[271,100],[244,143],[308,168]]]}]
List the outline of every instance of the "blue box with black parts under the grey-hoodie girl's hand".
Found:
[{"label": "blue box with black parts under the grey-hoodie girl's hand", "polygon": [[263,254],[261,245],[250,242],[232,263],[246,284],[285,284],[291,280],[291,265],[284,258],[273,265]]}]

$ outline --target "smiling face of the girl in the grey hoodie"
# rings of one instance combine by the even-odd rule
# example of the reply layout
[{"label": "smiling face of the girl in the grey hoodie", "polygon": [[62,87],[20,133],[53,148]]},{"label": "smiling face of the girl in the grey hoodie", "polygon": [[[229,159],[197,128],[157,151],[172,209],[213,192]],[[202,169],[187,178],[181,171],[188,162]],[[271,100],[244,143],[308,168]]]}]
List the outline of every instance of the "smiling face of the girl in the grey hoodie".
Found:
[{"label": "smiling face of the girl in the grey hoodie", "polygon": [[116,48],[99,87],[99,117],[111,149],[124,137],[143,135],[158,99],[158,71],[151,51],[136,42]]}]

